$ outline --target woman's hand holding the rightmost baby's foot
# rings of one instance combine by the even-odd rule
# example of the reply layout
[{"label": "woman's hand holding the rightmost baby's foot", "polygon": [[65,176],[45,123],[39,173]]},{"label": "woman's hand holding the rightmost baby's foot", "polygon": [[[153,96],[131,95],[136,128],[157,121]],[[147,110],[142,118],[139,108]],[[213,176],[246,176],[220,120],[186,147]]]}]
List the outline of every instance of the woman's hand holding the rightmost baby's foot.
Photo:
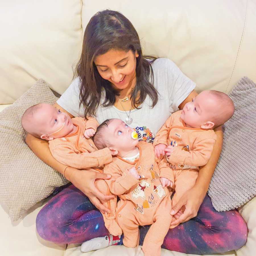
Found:
[{"label": "woman's hand holding the rightmost baby's foot", "polygon": [[[206,193],[202,193],[202,191],[197,187],[193,187],[186,191],[176,205],[172,207],[171,214],[174,216],[174,219],[172,220],[171,225],[186,222],[197,216],[197,212],[205,198],[205,195]],[[179,210],[182,210],[183,214],[177,214]]]}]

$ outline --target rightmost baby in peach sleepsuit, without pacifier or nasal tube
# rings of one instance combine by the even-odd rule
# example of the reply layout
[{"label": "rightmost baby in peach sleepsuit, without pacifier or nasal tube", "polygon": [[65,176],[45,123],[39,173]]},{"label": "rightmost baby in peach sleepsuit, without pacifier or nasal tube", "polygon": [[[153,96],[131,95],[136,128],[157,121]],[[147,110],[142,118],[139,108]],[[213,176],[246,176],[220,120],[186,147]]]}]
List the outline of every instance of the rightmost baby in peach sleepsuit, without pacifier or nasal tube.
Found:
[{"label": "rightmost baby in peach sleepsuit, without pacifier or nasal tube", "polygon": [[194,186],[199,166],[207,164],[216,141],[212,129],[224,124],[233,114],[234,104],[228,95],[215,90],[203,91],[183,110],[173,113],[156,134],[155,154],[158,157],[165,154],[172,169],[173,206]]}]

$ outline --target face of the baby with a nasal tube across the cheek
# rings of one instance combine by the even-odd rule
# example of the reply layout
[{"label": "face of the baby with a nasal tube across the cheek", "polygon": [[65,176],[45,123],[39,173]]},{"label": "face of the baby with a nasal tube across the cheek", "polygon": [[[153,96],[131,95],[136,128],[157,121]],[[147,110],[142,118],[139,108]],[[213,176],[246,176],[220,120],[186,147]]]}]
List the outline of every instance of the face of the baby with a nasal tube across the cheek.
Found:
[{"label": "face of the baby with a nasal tube across the cheek", "polygon": [[49,135],[53,139],[64,137],[74,127],[67,113],[45,103],[42,103],[42,106],[34,114],[31,125],[34,126],[35,131],[39,131],[42,135]]}]

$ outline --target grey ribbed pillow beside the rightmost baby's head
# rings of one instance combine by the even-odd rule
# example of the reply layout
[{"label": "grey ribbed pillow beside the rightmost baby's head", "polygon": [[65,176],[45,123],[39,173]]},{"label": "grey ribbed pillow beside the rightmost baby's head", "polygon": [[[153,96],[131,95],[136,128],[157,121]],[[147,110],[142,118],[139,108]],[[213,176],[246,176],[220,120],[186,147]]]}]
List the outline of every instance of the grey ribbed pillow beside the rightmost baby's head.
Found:
[{"label": "grey ribbed pillow beside the rightmost baby's head", "polygon": [[223,126],[223,148],[208,190],[217,211],[238,208],[256,195],[256,84],[244,77],[229,96],[235,113]]}]

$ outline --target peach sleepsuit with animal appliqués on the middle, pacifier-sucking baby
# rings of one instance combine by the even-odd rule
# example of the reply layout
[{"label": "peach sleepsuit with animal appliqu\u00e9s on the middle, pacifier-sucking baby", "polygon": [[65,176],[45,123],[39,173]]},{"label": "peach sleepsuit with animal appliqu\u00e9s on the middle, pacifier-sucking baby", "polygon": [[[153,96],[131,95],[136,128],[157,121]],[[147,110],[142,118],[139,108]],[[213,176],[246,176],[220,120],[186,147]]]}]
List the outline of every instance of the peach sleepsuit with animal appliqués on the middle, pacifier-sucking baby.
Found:
[{"label": "peach sleepsuit with animal appliqu\u00e9s on the middle, pacifier-sucking baby", "polygon": [[[170,194],[162,187],[160,177],[169,178],[171,170],[166,161],[166,168],[163,166],[160,172],[151,143],[139,142],[138,148],[139,158],[134,162],[115,157],[104,167],[104,173],[112,175],[106,182],[110,191],[120,197],[116,220],[124,233],[123,244],[136,247],[139,225],[152,224],[142,249],[144,255],[157,256],[172,221]],[[139,180],[129,173],[134,166],[141,176]]]}]

